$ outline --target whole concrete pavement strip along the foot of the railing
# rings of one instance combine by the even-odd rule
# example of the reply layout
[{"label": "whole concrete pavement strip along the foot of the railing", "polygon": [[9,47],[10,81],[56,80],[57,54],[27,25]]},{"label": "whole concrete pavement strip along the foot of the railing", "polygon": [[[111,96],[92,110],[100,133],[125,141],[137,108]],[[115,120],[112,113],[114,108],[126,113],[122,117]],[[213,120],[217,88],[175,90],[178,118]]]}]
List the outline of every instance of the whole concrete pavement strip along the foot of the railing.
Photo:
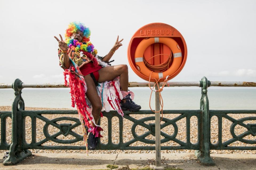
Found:
[{"label": "whole concrete pavement strip along the foot of the railing", "polygon": [[[1,153],[2,154],[2,153]],[[155,154],[73,154],[73,153],[33,153],[22,162],[4,166],[0,160],[0,170],[81,170],[107,169],[107,164],[118,165],[119,168],[129,165],[130,168],[142,168],[155,162]],[[215,165],[202,165],[194,154],[169,153],[161,154],[162,163],[168,167],[184,170],[236,170],[256,169],[256,155],[254,154],[211,154]]]}]

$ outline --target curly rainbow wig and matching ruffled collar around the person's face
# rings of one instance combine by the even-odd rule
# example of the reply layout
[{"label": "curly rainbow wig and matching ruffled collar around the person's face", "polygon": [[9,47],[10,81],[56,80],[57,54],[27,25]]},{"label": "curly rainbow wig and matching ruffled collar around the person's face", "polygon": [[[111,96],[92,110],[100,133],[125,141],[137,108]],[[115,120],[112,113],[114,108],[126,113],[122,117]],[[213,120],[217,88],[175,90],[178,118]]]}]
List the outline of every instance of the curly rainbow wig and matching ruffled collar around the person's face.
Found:
[{"label": "curly rainbow wig and matching ruffled collar around the person's face", "polygon": [[[82,42],[78,42],[77,40],[72,39],[73,33],[77,30],[83,32],[83,39]],[[71,22],[69,27],[66,29],[66,40],[65,42],[69,46],[69,48],[73,47],[76,51],[81,49],[86,52],[93,52],[94,46],[90,41],[91,31],[89,28],[85,27],[83,23],[80,22]]]}]

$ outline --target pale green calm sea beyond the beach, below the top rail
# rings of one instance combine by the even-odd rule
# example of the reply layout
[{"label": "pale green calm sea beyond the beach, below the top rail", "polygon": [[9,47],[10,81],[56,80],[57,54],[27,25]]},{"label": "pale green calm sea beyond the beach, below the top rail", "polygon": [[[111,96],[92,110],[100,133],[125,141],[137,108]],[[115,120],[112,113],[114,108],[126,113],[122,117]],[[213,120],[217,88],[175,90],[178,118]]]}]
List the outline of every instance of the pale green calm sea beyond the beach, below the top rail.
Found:
[{"label": "pale green calm sea beyond the beach, below the top rail", "polygon": [[[133,91],[134,102],[142,110],[149,110],[151,90],[149,88],[129,88]],[[69,108],[71,96],[69,88],[24,88],[22,98],[26,107]],[[180,89],[166,87],[161,92],[164,110],[200,109],[201,88]],[[256,110],[256,88],[208,88],[209,108],[212,110],[252,109]],[[11,106],[13,89],[0,89],[0,106]],[[155,94],[151,95],[151,108],[155,108]]]}]

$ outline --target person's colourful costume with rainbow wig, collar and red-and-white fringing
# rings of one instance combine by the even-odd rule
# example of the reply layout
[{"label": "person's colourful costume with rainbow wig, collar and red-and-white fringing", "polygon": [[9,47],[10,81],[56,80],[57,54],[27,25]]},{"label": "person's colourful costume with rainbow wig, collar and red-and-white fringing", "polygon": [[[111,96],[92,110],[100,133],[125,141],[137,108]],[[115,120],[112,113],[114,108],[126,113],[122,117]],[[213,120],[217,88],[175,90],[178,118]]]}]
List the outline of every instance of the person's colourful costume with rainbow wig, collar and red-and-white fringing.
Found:
[{"label": "person's colourful costume with rainbow wig, collar and red-and-white fringing", "polygon": [[[80,30],[84,33],[82,43],[78,42],[77,40],[71,39],[71,35],[77,30]],[[90,42],[89,36],[90,30],[89,28],[86,28],[83,24],[73,22],[69,25],[69,28],[66,30],[65,35],[65,41],[69,47],[67,53],[71,62],[69,69],[66,68],[63,64],[62,50],[59,49],[58,51],[59,65],[65,70],[65,85],[67,85],[66,75],[69,75],[69,87],[71,93],[72,107],[75,107],[75,104],[77,105],[79,120],[81,121],[81,125],[83,127],[83,141],[86,144],[86,152],[88,152],[86,129],[88,129],[89,132],[96,134],[95,137],[102,137],[99,134],[99,131],[103,129],[95,123],[92,114],[91,103],[86,97],[87,87],[80,68],[82,69],[83,66],[86,66],[86,64],[90,62],[92,62],[94,68],[99,68],[99,65],[102,67],[109,66],[108,63],[102,61],[103,57],[97,56],[97,50],[94,49],[93,44]],[[120,107],[120,101],[123,99],[123,95],[120,91],[119,77],[109,82],[98,83],[97,92],[99,97],[101,98],[103,106],[102,111],[105,110],[106,112],[109,112],[110,109],[113,108],[118,112],[118,114],[123,116],[123,111]],[[93,128],[91,126],[88,119],[96,125],[96,128]]]}]

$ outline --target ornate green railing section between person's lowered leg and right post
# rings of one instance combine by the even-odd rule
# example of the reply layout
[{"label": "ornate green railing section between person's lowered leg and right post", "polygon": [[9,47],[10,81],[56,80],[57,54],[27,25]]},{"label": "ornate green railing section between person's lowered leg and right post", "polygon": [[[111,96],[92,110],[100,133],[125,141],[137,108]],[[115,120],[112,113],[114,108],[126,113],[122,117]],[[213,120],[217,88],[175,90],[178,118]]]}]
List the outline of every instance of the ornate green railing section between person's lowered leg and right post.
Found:
[{"label": "ornate green railing section between person's lowered leg and right post", "polygon": [[[199,149],[199,142],[197,142],[196,144],[192,144],[190,142],[190,118],[192,116],[196,116],[198,118],[198,124],[199,122],[199,116],[200,116],[201,111],[200,110],[195,110],[195,111],[190,111],[190,110],[165,110],[163,111],[163,114],[180,114],[179,116],[173,118],[173,119],[168,119],[168,118],[163,118],[162,121],[164,121],[165,123],[161,124],[161,129],[165,128],[166,126],[169,125],[173,125],[174,127],[174,133],[172,135],[166,134],[165,132],[161,131],[161,135],[164,137],[164,139],[161,139],[161,143],[165,143],[168,141],[174,141],[176,143],[178,143],[180,146],[161,146],[162,150],[178,150],[178,149]],[[123,119],[121,116],[117,115],[117,113],[115,111],[111,111],[110,113],[103,113],[103,116],[107,117],[108,120],[108,127],[109,127],[109,131],[108,131],[108,143],[107,144],[102,144],[98,146],[98,148],[96,149],[101,149],[101,150],[155,150],[155,146],[130,146],[132,143],[140,141],[143,143],[148,143],[148,144],[155,144],[154,140],[150,140],[150,139],[146,139],[145,137],[147,137],[148,135],[153,135],[155,136],[155,124],[154,123],[149,123],[146,124],[144,122],[146,121],[150,121],[150,120],[155,120],[154,116],[151,117],[145,117],[142,119],[135,119],[133,117],[130,116],[130,114],[152,114],[151,111],[138,111],[138,112],[128,112],[125,111],[124,112],[124,118],[127,120],[130,120],[133,122],[132,128],[131,128],[131,134],[133,135],[133,139],[131,139],[128,142],[123,142]],[[113,144],[112,143],[112,139],[111,139],[111,118],[117,116],[119,118],[119,143],[118,144]],[[182,118],[186,118],[186,138],[187,141],[186,142],[182,142],[179,139],[176,138],[177,133],[178,133],[178,127],[176,122],[181,120]],[[142,135],[138,135],[135,132],[135,128],[136,126],[142,126],[144,128],[146,128],[148,131]],[[179,129],[181,130],[181,129]],[[183,129],[182,129],[183,130]],[[199,129],[198,129],[198,134],[199,134]],[[199,137],[198,137],[199,139]]]}]

